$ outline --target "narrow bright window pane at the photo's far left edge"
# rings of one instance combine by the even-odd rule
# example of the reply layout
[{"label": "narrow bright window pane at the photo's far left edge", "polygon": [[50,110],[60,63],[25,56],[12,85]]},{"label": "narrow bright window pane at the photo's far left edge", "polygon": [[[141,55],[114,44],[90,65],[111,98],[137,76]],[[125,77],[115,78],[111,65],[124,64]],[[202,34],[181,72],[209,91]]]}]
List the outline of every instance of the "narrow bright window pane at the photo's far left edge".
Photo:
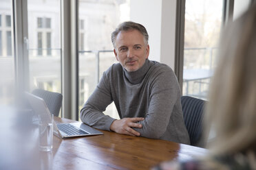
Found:
[{"label": "narrow bright window pane at the photo's far left edge", "polygon": [[12,104],[14,56],[12,46],[12,1],[0,1],[0,104]]}]

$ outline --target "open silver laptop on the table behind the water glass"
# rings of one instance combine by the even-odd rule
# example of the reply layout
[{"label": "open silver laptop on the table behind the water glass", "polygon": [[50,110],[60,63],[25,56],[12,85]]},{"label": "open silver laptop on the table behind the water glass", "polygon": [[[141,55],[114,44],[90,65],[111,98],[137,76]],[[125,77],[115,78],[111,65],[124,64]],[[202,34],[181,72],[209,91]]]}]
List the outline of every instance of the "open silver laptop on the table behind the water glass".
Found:
[{"label": "open silver laptop on the table behind the water glass", "polygon": [[[36,115],[46,116],[50,119],[50,111],[42,98],[37,97],[36,95],[32,95],[28,92],[25,92],[25,97],[28,99],[28,102],[30,103],[32,110],[34,110]],[[81,122],[55,123],[53,121],[53,132],[55,136],[58,136],[58,138],[70,138],[76,136],[92,136],[103,134],[103,132],[95,130],[93,127],[85,125],[85,123]]]}]

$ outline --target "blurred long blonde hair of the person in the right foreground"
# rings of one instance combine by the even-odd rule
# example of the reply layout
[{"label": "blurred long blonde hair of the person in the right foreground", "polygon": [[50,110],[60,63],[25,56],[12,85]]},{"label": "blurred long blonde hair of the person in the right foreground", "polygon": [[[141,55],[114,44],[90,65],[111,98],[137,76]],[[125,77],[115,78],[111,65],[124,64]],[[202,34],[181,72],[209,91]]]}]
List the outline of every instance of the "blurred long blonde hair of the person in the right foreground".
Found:
[{"label": "blurred long blonde hair of the person in the right foreground", "polygon": [[216,134],[215,154],[255,150],[256,143],[256,5],[222,34],[219,64],[206,106],[206,127]]}]

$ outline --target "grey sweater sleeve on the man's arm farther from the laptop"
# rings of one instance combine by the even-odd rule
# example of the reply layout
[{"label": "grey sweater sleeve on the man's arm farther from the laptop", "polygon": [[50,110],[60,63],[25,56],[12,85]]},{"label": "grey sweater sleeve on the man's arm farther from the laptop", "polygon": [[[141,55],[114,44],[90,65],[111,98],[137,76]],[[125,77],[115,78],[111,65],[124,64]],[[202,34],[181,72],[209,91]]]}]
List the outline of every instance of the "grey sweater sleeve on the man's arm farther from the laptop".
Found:
[{"label": "grey sweater sleeve on the man's arm farther from the laptop", "polygon": [[142,128],[134,128],[140,136],[160,138],[167,131],[171,114],[177,99],[180,99],[180,86],[173,71],[164,69],[153,76],[149,109],[144,121],[140,121]]}]

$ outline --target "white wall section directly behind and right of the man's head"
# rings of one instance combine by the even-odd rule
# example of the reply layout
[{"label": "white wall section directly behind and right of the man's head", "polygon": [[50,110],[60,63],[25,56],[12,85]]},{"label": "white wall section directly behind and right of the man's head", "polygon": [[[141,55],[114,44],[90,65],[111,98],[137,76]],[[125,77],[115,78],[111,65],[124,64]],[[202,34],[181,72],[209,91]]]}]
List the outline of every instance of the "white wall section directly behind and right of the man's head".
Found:
[{"label": "white wall section directly behind and right of the man's head", "polygon": [[174,69],[176,0],[131,0],[131,21],[149,34],[149,59]]}]

